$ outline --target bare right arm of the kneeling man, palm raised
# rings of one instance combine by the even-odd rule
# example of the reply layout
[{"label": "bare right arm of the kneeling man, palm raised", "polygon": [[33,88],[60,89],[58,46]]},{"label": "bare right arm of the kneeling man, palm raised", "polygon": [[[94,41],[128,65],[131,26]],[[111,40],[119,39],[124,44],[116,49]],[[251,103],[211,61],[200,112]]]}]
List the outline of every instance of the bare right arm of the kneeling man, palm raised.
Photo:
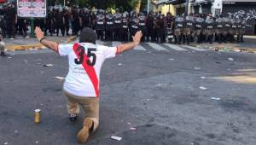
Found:
[{"label": "bare right arm of the kneeling man, palm raised", "polygon": [[135,36],[133,36],[133,42],[128,43],[128,44],[120,44],[118,46],[118,50],[117,53],[120,54],[128,49],[132,49],[134,47],[136,47],[138,44],[140,44],[141,42],[141,38],[143,37],[143,32],[139,31],[135,34]]}]

